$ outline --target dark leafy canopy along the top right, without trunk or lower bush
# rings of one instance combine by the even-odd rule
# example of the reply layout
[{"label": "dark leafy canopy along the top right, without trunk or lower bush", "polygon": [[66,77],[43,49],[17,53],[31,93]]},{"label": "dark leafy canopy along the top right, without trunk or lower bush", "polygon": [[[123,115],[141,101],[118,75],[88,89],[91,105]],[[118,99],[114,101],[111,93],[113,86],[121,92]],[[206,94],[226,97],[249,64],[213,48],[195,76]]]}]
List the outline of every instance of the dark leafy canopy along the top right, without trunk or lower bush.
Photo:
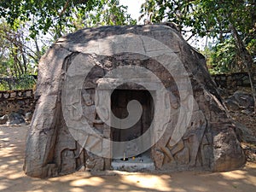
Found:
[{"label": "dark leafy canopy along the top right, without trunk or lower bush", "polygon": [[230,32],[230,22],[239,32],[248,33],[255,25],[254,0],[146,0],[142,16],[151,22],[172,21],[183,32],[219,37]]}]

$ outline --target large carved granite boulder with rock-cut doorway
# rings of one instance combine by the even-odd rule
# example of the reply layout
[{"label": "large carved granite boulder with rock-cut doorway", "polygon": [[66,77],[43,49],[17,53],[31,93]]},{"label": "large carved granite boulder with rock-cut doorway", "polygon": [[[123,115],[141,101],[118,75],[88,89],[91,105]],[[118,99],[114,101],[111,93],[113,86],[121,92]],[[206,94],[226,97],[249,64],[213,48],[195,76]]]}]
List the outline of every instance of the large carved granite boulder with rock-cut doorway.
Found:
[{"label": "large carved granite boulder with rock-cut doorway", "polygon": [[145,153],[163,171],[245,163],[205,58],[169,26],[60,38],[39,62],[35,96],[24,166],[32,177],[108,170],[113,159]]}]

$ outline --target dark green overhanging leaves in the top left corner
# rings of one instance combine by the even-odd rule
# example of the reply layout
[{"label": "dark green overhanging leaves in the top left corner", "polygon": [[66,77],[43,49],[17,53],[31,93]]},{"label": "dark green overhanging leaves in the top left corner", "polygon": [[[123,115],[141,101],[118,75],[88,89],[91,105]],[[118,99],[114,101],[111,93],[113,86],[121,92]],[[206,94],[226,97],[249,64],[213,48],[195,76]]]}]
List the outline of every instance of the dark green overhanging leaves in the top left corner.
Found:
[{"label": "dark green overhanging leaves in the top left corner", "polygon": [[[39,32],[46,34],[50,27],[61,36],[61,31],[72,17],[74,6],[80,9],[91,10],[98,1],[76,1],[76,0],[16,0],[3,1],[0,3],[0,15],[6,18],[7,22],[14,27],[19,27],[19,21],[32,21],[30,26],[31,37],[35,38]],[[86,6],[88,5],[88,6]]]}]

